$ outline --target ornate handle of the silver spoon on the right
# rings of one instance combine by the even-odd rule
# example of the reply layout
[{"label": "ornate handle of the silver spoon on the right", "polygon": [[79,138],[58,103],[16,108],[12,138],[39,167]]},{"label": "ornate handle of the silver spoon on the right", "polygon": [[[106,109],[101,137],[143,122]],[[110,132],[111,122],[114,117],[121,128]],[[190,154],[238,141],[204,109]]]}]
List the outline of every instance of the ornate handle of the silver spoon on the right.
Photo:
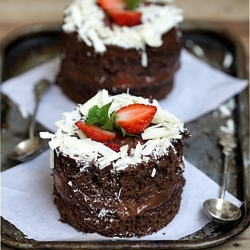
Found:
[{"label": "ornate handle of the silver spoon on the right", "polygon": [[222,152],[224,154],[224,169],[222,175],[222,186],[220,191],[220,198],[223,199],[225,196],[226,186],[227,186],[228,159],[232,149],[236,147],[236,143],[234,136],[230,134],[223,134],[220,137],[219,143],[223,148]]}]

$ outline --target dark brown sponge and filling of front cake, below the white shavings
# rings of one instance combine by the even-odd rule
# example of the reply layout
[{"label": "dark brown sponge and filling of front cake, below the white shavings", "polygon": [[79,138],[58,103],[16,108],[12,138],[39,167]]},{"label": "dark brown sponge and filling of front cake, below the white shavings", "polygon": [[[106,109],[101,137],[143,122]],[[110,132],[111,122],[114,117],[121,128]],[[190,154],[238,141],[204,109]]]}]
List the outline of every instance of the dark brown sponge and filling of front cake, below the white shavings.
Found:
[{"label": "dark brown sponge and filling of front cake, below the white shavings", "polygon": [[[158,162],[112,171],[54,152],[54,193],[63,222],[85,233],[131,237],[152,234],[178,213],[185,179],[182,143]],[[155,171],[155,175],[152,173]]]}]

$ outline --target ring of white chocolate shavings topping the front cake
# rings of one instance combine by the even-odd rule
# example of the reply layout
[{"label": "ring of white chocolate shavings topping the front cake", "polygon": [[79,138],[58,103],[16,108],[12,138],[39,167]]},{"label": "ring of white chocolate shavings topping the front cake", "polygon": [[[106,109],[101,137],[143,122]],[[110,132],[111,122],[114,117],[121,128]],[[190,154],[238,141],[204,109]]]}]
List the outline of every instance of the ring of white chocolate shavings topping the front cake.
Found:
[{"label": "ring of white chocolate shavings topping the front cake", "polygon": [[[146,128],[141,138],[143,143],[138,141],[134,148],[129,148],[128,144],[123,145],[119,152],[115,152],[101,142],[88,138],[75,123],[85,121],[88,111],[94,105],[102,107],[112,102],[109,114],[119,110],[129,104],[141,103],[157,107],[151,125]],[[142,97],[132,96],[130,94],[120,94],[110,96],[106,90],[99,91],[93,98],[85,104],[79,104],[72,112],[63,113],[63,119],[56,122],[57,132],[50,134],[42,132],[42,138],[50,138],[51,150],[60,148],[65,155],[76,161],[86,162],[86,166],[91,161],[103,169],[112,164],[116,170],[123,170],[128,166],[136,166],[141,162],[148,162],[150,159],[156,160],[162,155],[168,154],[169,148],[173,147],[173,142],[182,139],[182,133],[185,128],[175,116],[166,110],[163,110],[158,101],[149,100]],[[52,166],[53,167],[53,166]]]}]

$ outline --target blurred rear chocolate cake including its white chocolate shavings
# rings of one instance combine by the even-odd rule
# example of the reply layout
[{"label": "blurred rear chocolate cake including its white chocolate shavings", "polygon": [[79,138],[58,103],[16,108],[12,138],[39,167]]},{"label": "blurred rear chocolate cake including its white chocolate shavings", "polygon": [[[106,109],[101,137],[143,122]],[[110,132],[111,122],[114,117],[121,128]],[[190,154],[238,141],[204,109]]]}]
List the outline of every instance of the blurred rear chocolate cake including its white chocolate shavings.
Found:
[{"label": "blurred rear chocolate cake including its white chocolate shavings", "polygon": [[133,10],[140,14],[137,25],[121,26],[103,2],[74,1],[65,10],[57,84],[77,103],[100,89],[164,98],[180,66],[182,11],[167,0],[146,1]]}]

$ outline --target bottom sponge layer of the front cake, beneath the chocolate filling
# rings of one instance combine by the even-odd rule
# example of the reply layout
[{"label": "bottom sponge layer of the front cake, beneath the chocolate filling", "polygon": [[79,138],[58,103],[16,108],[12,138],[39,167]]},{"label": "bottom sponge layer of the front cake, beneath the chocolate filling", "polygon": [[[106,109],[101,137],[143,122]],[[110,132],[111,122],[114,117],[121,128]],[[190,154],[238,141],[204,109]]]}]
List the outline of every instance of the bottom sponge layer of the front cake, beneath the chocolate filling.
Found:
[{"label": "bottom sponge layer of the front cake, beneath the chocolate filling", "polygon": [[[88,206],[83,206],[79,211],[76,204],[63,200],[57,189],[55,189],[55,203],[60,211],[61,221],[68,223],[78,231],[98,233],[109,237],[142,237],[159,231],[173,220],[180,208],[184,184],[185,179],[181,178],[178,189],[168,201],[155,209],[146,211],[143,215],[125,220],[113,215],[104,218],[98,214],[92,214]],[[86,220],[87,218],[91,218],[91,220]]]}]

